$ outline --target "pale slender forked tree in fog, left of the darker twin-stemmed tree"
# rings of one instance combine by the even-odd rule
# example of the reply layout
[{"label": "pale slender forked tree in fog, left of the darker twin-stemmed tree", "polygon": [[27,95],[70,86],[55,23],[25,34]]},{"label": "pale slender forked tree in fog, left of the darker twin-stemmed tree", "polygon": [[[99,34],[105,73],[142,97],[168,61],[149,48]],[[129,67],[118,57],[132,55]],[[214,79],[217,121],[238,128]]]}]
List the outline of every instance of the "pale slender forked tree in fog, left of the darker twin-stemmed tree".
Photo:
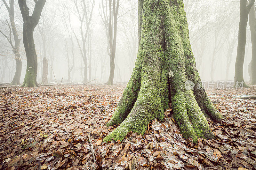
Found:
[{"label": "pale slender forked tree in fog, left of the darker twin-stemmed tree", "polygon": [[[88,82],[88,78],[87,78],[87,67],[88,67],[88,63],[87,63],[87,54],[86,54],[86,41],[88,38],[88,32],[89,32],[89,28],[91,25],[91,20],[92,20],[92,11],[94,8],[94,0],[91,1],[91,11],[88,11],[88,7],[87,4],[85,2],[85,0],[73,0],[75,6],[76,6],[76,16],[79,19],[79,26],[80,26],[80,34],[81,34],[81,39],[82,39],[82,45],[80,44],[76,33],[75,37],[76,37],[76,41],[78,44],[78,47],[80,49],[83,61],[84,61],[84,80],[83,83]],[[80,10],[80,8],[82,10]],[[84,28],[85,27],[85,28]],[[84,29],[85,29],[85,33],[84,33]]]}]

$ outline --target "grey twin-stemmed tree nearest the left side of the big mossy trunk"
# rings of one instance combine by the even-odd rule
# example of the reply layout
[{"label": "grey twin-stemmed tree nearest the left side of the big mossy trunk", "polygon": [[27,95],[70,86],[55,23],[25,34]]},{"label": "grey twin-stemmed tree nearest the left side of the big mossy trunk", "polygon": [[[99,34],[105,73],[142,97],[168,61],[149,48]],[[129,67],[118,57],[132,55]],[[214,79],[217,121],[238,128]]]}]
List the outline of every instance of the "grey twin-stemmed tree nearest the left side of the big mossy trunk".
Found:
[{"label": "grey twin-stemmed tree nearest the left side of the big mossy trunk", "polygon": [[[101,18],[105,25],[106,36],[108,39],[108,55],[110,57],[110,72],[108,82],[106,84],[113,85],[115,73],[115,55],[116,55],[116,33],[117,33],[117,15],[119,9],[119,0],[106,0],[104,4],[101,0],[102,14]],[[113,8],[112,8],[113,5]],[[109,13],[107,13],[107,10]]]}]

